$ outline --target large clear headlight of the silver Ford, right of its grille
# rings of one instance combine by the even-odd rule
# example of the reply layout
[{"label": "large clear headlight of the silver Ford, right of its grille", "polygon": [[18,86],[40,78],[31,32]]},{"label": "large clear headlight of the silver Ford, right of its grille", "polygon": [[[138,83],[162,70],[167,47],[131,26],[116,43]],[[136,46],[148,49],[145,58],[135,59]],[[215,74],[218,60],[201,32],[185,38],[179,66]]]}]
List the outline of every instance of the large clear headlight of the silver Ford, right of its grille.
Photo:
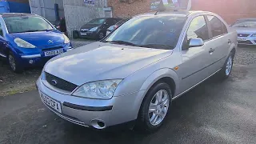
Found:
[{"label": "large clear headlight of the silver Ford, right of its grille", "polygon": [[89,82],[80,86],[72,95],[83,98],[110,99],[122,79]]}]

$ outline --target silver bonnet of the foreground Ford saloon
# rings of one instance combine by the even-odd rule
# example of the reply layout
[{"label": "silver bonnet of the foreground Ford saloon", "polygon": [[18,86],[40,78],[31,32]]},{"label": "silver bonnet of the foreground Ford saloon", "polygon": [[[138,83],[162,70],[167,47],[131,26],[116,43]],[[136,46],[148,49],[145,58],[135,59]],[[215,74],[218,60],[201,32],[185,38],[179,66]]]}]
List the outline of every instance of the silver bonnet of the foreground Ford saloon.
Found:
[{"label": "silver bonnet of the foreground Ford saloon", "polygon": [[[96,42],[95,42],[96,43]],[[88,49],[90,49],[88,51]],[[45,71],[78,86],[98,80],[126,78],[149,64],[166,58],[173,50],[134,46],[90,44],[58,55]]]}]

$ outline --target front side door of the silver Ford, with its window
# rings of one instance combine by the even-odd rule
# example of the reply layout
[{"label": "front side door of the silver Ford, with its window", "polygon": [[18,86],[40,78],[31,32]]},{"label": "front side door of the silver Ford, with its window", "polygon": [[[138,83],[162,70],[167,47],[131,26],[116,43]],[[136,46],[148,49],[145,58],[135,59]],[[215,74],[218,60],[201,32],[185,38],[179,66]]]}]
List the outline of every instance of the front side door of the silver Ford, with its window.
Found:
[{"label": "front side door of the silver Ford, with its window", "polygon": [[[202,38],[204,45],[189,47],[190,38]],[[206,70],[206,67],[210,65],[209,39],[210,33],[204,16],[194,18],[190,22],[182,46],[182,65],[178,69],[181,84],[178,94],[190,89],[210,75],[211,72]]]}]

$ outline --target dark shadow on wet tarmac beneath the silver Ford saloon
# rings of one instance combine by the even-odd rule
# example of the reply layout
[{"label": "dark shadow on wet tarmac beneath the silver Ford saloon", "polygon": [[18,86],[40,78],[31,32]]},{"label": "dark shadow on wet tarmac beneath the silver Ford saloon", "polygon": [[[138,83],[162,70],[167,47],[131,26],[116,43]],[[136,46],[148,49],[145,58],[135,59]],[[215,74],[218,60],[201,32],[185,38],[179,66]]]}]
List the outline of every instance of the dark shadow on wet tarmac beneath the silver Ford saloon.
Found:
[{"label": "dark shadow on wet tarmac beneath the silver Ford saloon", "polygon": [[[207,95],[206,87],[212,85],[221,85],[225,81],[219,81],[218,76],[214,76],[206,82],[184,94],[172,103],[170,113],[167,115],[164,125],[155,133],[147,134],[139,130],[130,130],[127,126],[114,126],[106,130],[94,130],[82,126],[65,122],[64,131],[66,131],[63,142],[90,142],[90,143],[149,143],[154,138],[161,139],[163,134],[174,137],[179,127],[187,126],[187,121],[193,121],[193,110],[198,107],[202,101],[210,98]],[[191,118],[190,118],[191,116]],[[172,136],[171,136],[172,135]],[[163,140],[166,138],[162,138]]]}]

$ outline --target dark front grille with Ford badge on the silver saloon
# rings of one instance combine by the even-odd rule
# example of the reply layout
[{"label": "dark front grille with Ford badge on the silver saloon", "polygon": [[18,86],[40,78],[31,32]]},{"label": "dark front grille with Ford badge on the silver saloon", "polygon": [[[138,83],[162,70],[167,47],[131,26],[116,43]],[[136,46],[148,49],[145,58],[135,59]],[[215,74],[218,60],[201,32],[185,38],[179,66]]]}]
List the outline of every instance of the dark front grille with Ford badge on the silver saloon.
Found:
[{"label": "dark front grille with Ford badge on the silver saloon", "polygon": [[62,78],[55,77],[52,74],[46,73],[46,81],[50,83],[51,86],[57,87],[61,90],[66,90],[72,92],[78,86],[74,83],[67,82]]}]

